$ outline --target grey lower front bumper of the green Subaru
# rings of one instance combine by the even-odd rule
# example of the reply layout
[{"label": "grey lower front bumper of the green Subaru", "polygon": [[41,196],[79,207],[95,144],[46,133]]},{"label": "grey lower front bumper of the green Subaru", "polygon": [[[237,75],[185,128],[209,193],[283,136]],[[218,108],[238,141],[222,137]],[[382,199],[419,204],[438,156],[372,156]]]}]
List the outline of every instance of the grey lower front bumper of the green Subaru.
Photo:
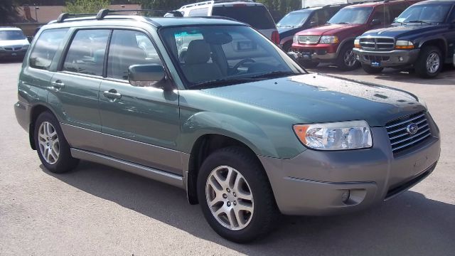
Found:
[{"label": "grey lower front bumper of the green Subaru", "polygon": [[373,127],[370,149],[307,149],[294,159],[259,159],[282,213],[348,213],[397,196],[431,174],[440,153],[438,129],[431,126],[432,137],[405,154],[392,154],[387,130]]}]

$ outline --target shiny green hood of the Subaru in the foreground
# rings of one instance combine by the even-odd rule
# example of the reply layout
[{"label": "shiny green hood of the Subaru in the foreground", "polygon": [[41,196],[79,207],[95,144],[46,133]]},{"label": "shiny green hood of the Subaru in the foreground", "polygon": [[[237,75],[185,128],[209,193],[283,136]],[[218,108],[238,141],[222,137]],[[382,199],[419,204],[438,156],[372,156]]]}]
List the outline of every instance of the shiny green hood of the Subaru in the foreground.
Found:
[{"label": "shiny green hood of the Subaru in the foreground", "polygon": [[408,92],[320,74],[215,87],[202,92],[289,114],[301,123],[365,120],[370,127],[381,127],[392,119],[425,110],[417,97]]}]

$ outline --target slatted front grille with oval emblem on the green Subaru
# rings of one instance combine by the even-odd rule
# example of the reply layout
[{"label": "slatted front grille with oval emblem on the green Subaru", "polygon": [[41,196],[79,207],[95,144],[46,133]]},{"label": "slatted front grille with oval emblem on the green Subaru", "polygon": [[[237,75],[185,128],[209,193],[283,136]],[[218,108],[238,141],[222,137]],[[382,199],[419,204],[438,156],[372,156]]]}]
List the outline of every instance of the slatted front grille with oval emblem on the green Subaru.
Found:
[{"label": "slatted front grille with oval emblem on the green Subaru", "polygon": [[[417,124],[417,131],[414,133],[409,131],[411,124]],[[395,119],[388,122],[386,128],[394,154],[424,142],[424,139],[431,135],[424,112]]]}]

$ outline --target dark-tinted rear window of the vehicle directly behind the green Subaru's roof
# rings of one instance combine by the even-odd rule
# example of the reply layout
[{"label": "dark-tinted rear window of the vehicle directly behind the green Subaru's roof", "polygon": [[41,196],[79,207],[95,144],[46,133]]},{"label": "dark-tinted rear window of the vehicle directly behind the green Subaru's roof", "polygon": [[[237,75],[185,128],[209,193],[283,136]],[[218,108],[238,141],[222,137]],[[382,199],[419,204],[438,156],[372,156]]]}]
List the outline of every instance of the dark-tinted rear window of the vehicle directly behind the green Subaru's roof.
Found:
[{"label": "dark-tinted rear window of the vehicle directly behind the green Subaru's roof", "polygon": [[234,18],[256,29],[276,28],[269,11],[261,5],[213,6],[212,15]]}]

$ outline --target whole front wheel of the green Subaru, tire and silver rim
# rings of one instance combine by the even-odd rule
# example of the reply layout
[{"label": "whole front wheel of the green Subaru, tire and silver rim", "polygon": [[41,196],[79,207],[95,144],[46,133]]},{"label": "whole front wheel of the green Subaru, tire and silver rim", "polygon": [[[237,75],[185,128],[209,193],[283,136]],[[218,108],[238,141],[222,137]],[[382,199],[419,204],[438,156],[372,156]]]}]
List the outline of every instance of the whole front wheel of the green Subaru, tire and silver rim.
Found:
[{"label": "whole front wheel of the green Subaru, tire and silver rim", "polygon": [[198,174],[198,199],[210,227],[233,242],[267,234],[277,216],[262,166],[240,147],[220,149],[205,159]]}]

